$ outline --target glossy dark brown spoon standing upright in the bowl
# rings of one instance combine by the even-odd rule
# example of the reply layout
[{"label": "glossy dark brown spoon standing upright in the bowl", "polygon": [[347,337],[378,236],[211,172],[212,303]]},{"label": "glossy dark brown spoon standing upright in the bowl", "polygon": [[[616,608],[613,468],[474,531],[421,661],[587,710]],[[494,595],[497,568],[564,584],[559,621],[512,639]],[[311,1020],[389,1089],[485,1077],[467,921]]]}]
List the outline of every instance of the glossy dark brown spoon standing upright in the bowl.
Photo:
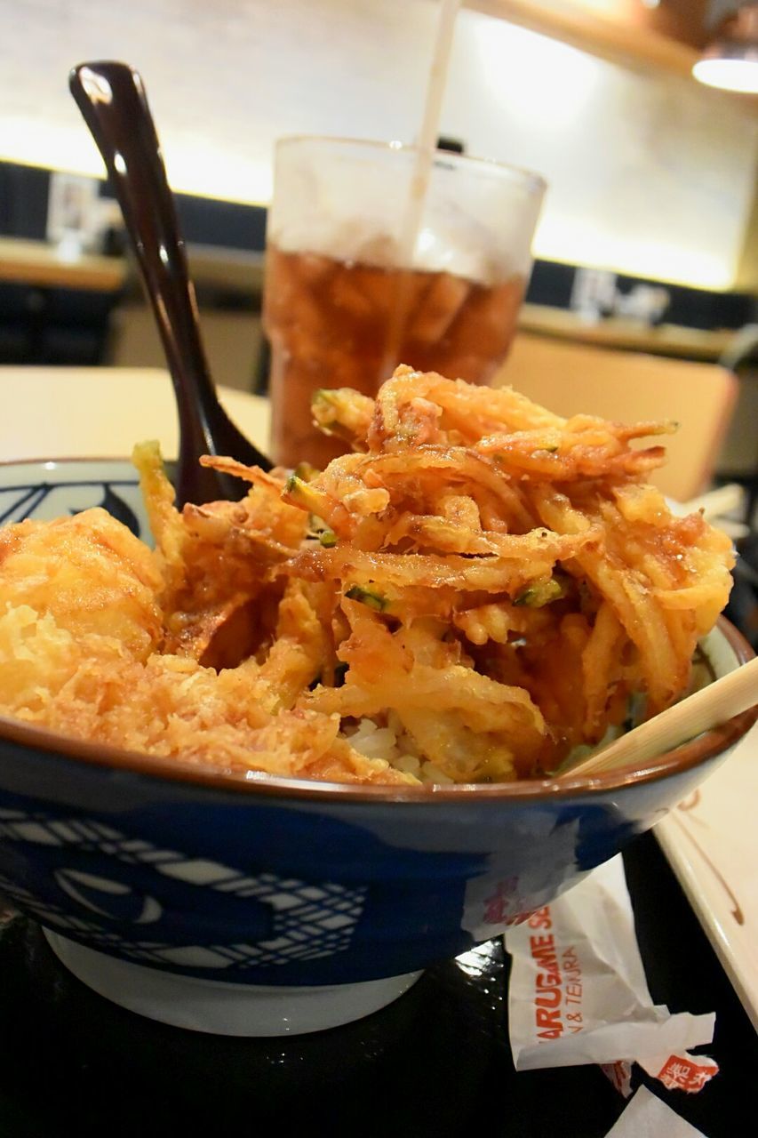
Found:
[{"label": "glossy dark brown spoon standing upright in the bowl", "polygon": [[216,396],[142,80],[126,64],[86,63],[72,69],[68,85],[105,159],[166,353],[179,412],[178,503],[239,498],[242,484],[200,467],[199,456],[231,455],[264,470],[272,464]]}]

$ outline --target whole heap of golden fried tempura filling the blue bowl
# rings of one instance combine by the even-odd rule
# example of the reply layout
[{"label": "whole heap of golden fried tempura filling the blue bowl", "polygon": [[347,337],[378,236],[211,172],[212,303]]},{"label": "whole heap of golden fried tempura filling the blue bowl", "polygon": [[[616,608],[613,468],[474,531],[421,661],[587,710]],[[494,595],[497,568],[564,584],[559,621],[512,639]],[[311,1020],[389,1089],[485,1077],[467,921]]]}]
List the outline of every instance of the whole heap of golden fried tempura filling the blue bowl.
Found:
[{"label": "whole heap of golden fried tempura filling the blue bowl", "polygon": [[[178,512],[138,447],[155,554],[99,510],[2,531],[0,711],[225,770],[481,782],[686,690],[733,558],[644,484],[664,451],[635,444],[674,424],[410,368],[313,411],[355,453],[293,475],[205,459],[241,502]],[[364,719],[396,767],[351,743]]]}]

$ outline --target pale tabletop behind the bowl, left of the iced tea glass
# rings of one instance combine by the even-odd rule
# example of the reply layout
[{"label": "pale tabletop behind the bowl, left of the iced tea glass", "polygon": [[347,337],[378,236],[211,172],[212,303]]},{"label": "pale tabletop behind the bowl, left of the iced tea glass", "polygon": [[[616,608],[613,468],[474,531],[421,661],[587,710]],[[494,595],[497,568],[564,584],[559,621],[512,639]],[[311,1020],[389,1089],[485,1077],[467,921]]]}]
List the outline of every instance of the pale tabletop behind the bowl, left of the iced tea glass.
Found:
[{"label": "pale tabletop behind the bowl, left of the iced tea glass", "polygon": [[[256,445],[269,440],[269,402],[220,388],[229,415]],[[127,457],[158,439],[176,457],[178,427],[168,373],[158,368],[0,366],[0,461]]]}]

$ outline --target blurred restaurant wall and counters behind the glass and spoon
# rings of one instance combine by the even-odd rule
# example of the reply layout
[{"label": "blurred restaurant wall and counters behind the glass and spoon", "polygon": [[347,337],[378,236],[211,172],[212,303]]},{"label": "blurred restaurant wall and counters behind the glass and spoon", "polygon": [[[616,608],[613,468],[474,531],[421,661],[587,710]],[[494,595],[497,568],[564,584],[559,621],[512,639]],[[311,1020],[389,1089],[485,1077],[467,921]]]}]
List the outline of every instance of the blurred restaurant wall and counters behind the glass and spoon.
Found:
[{"label": "blurred restaurant wall and counters behind the glass and spoon", "polygon": [[[739,399],[716,475],[753,502],[758,97],[692,76],[724,20],[750,7],[470,0],[440,130],[446,146],[547,180],[520,335],[727,366]],[[413,141],[437,10],[436,0],[0,0],[0,364],[164,365],[67,90],[74,63],[115,58],[148,89],[213,374],[265,391],[274,141]]]}]

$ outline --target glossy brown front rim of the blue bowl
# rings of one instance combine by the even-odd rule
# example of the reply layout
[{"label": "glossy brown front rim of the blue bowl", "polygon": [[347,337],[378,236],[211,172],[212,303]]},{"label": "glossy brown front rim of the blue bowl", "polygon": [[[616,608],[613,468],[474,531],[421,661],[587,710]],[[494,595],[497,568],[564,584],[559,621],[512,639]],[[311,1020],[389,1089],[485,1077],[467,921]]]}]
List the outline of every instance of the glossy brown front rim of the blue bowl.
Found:
[{"label": "glossy brown front rim of the blue bowl", "polygon": [[[755,653],[745,638],[724,617],[717,627],[725,636],[738,661],[742,665]],[[660,759],[646,762],[642,768],[625,767],[595,777],[532,778],[512,783],[459,783],[454,786],[396,786],[363,785],[354,783],[329,783],[315,780],[286,778],[262,772],[228,770],[203,764],[183,764],[179,759],[141,754],[117,747],[90,743],[83,740],[57,735],[42,727],[30,726],[17,719],[0,716],[0,741],[17,743],[35,750],[48,751],[77,762],[126,770],[140,776],[170,780],[184,784],[200,785],[240,794],[278,797],[294,801],[318,802],[464,802],[476,797],[477,801],[503,803],[528,802],[537,799],[565,800],[585,794],[608,793],[624,786],[658,782],[673,774],[682,774],[715,758],[726,748],[736,743],[758,719],[758,706],[698,739],[675,748]]]}]

